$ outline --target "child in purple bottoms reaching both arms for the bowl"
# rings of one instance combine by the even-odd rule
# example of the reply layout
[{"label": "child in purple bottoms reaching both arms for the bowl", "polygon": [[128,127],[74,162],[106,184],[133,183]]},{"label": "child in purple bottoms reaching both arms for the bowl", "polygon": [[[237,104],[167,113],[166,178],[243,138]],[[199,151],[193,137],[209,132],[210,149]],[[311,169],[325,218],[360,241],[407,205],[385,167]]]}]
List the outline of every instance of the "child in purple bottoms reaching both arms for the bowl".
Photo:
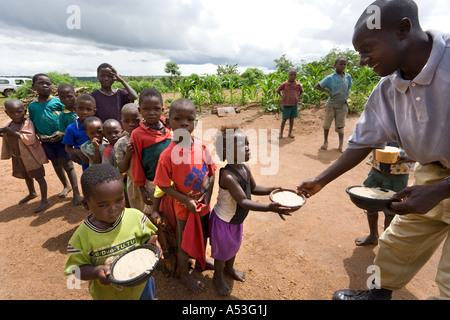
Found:
[{"label": "child in purple bottoms reaching both arms for the bowl", "polygon": [[224,273],[245,281],[245,274],[234,269],[234,261],[241,247],[243,223],[249,211],[273,211],[283,220],[283,215],[290,215],[289,208],[279,203],[263,204],[251,200],[252,194],[269,195],[279,187],[256,185],[250,168],[244,163],[250,159],[248,144],[245,133],[236,127],[223,127],[216,137],[216,150],[221,160],[227,160],[227,165],[219,173],[219,194],[210,215],[210,242],[214,284],[224,296],[231,293],[223,279]]}]

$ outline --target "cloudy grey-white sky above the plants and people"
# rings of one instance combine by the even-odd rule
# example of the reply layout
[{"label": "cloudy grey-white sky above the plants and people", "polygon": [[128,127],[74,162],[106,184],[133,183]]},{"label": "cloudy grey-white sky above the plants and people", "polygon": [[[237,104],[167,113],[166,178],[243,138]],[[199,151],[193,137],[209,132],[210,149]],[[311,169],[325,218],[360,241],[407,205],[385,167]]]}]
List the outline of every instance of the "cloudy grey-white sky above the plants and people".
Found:
[{"label": "cloudy grey-white sky above the plants and people", "polygon": [[[225,64],[268,72],[283,54],[299,63],[353,49],[354,24],[372,2],[0,0],[0,75],[95,76],[103,62],[122,75],[164,75],[168,61],[183,75]],[[416,2],[425,30],[450,32],[450,1]]]}]

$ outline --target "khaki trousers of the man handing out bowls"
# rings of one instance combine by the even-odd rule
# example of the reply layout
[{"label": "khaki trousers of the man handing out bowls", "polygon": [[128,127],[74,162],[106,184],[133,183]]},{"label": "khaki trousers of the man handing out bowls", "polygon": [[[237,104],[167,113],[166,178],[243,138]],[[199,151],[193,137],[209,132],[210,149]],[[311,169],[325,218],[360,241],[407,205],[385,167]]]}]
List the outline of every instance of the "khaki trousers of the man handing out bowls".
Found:
[{"label": "khaki trousers of the man handing out bowls", "polygon": [[[450,176],[450,169],[434,164],[417,165],[416,185],[429,185]],[[379,239],[375,265],[380,267],[381,287],[404,287],[444,242],[436,284],[439,295],[430,299],[450,299],[450,199],[442,201],[425,215],[395,216]]]}]

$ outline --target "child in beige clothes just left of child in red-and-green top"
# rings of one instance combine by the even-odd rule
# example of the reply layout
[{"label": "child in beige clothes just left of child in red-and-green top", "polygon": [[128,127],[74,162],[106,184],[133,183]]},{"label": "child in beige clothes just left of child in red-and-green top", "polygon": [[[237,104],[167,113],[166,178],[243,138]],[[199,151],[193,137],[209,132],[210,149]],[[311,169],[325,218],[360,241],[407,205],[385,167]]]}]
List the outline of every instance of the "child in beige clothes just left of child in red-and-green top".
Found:
[{"label": "child in beige clothes just left of child in red-and-green top", "polygon": [[117,168],[127,176],[125,187],[130,207],[143,211],[144,201],[142,200],[141,191],[134,184],[131,175],[131,158],[134,154],[134,147],[130,141],[130,135],[139,127],[142,116],[139,113],[139,106],[135,103],[127,103],[124,105],[121,113],[122,127],[125,133],[114,145]]}]

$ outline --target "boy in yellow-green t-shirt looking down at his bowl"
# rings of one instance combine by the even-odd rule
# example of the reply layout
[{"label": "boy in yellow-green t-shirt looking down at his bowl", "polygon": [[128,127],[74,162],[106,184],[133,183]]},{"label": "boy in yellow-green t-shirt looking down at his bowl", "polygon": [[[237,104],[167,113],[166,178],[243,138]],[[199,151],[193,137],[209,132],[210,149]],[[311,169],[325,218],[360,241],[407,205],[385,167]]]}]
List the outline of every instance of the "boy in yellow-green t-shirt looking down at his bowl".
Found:
[{"label": "boy in yellow-green t-shirt looking down at his bowl", "polygon": [[108,275],[114,259],[126,250],[144,243],[161,248],[157,228],[141,211],[125,208],[122,176],[113,166],[89,167],[81,176],[81,187],[91,214],[69,240],[64,274],[75,271],[80,280],[91,280],[94,300],[154,299],[152,277],[138,286],[121,287],[111,284]]}]

